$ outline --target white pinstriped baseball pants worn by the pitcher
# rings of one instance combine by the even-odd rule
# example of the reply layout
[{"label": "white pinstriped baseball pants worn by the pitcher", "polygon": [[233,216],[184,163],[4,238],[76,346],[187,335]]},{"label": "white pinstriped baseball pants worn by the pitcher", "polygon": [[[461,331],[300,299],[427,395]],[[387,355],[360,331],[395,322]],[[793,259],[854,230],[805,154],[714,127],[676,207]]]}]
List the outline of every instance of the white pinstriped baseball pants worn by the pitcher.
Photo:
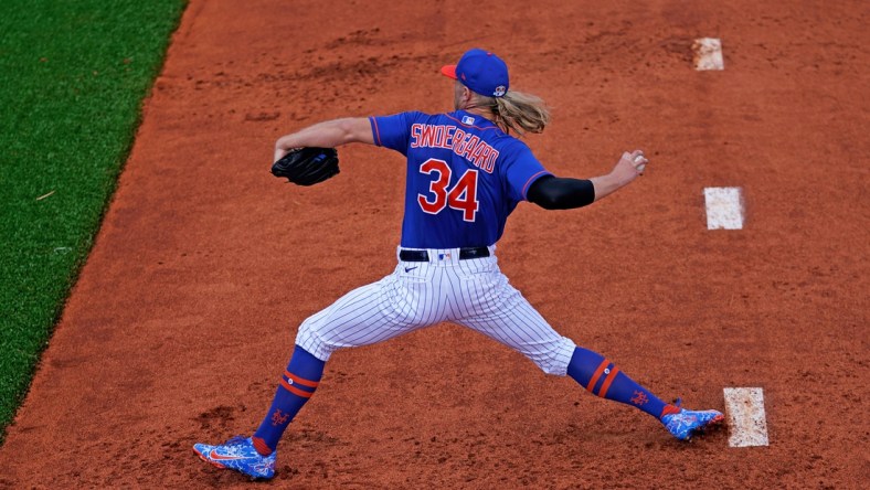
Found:
[{"label": "white pinstriped baseball pants worn by the pitcher", "polygon": [[[369,345],[452,321],[564,376],[574,342],[560,335],[490,256],[459,260],[459,249],[427,249],[429,262],[399,260],[393,274],[357,288],[299,327],[296,343],[321,361],[338,349]],[[396,252],[396,256],[397,256]]]}]

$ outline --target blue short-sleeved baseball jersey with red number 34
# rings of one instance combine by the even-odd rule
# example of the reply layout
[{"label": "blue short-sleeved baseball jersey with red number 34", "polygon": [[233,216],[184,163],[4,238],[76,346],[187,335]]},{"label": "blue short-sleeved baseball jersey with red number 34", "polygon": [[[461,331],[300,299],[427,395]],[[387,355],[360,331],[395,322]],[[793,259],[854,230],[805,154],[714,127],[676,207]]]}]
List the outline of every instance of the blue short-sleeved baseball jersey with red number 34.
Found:
[{"label": "blue short-sleeved baseball jersey with red number 34", "polygon": [[532,182],[550,174],[526,143],[464,110],[369,119],[375,145],[407,157],[406,248],[495,244]]}]

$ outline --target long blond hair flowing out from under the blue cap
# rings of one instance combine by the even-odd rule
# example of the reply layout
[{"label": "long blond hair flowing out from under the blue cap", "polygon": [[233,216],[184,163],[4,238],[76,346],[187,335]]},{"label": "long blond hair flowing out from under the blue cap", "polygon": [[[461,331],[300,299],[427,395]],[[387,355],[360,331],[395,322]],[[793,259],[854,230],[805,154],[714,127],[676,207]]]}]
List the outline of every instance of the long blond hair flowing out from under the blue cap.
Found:
[{"label": "long blond hair flowing out from under the blue cap", "polygon": [[550,124],[550,108],[537,95],[516,90],[501,97],[487,97],[477,93],[475,95],[475,105],[489,109],[494,122],[507,134],[511,130],[519,136],[526,132],[543,132]]}]

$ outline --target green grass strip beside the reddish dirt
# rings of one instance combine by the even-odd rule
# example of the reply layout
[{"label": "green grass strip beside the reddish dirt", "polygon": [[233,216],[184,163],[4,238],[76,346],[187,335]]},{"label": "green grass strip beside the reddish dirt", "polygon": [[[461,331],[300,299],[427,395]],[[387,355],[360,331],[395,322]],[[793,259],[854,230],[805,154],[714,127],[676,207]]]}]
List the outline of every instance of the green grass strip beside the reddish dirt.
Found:
[{"label": "green grass strip beside the reddish dirt", "polygon": [[3,1],[0,443],[91,249],[184,4]]}]

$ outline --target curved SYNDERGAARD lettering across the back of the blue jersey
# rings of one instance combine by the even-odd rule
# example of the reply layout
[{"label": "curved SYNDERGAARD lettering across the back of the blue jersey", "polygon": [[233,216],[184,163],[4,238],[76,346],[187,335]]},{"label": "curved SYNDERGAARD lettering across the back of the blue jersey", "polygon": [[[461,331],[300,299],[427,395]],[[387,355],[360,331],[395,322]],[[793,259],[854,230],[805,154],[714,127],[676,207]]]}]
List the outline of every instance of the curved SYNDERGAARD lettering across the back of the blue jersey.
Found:
[{"label": "curved SYNDERGAARD lettering across the back of the blue jersey", "polygon": [[498,150],[471,132],[453,125],[411,126],[411,148],[444,148],[474,163],[480,170],[492,173]]}]

